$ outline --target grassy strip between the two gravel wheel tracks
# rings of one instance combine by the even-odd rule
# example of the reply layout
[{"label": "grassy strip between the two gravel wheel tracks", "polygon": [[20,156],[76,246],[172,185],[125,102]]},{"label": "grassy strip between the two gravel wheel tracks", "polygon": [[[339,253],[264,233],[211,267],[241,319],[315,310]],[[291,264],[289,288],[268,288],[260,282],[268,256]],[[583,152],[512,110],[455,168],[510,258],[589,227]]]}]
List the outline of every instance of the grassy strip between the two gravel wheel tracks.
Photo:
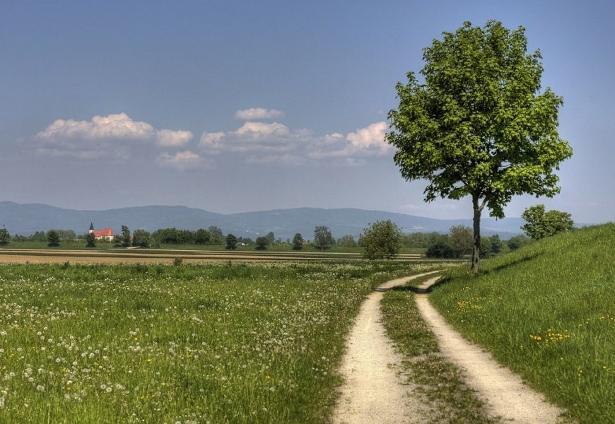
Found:
[{"label": "grassy strip between the two gravel wheel tracks", "polygon": [[[433,276],[409,282],[416,286]],[[435,335],[416,309],[414,293],[390,290],[382,298],[382,316],[387,334],[404,355],[406,379],[424,396],[429,423],[494,423],[484,411],[484,402],[464,384],[462,372],[447,362]]]}]

